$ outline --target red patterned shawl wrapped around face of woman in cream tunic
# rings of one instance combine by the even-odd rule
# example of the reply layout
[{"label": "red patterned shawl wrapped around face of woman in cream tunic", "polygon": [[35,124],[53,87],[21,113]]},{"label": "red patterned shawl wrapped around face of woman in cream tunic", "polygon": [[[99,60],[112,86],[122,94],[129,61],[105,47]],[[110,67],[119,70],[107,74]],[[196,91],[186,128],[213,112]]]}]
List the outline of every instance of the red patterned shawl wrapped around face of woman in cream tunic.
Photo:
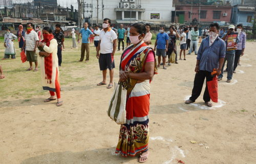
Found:
[{"label": "red patterned shawl wrapped around face of woman in cream tunic", "polygon": [[[52,34],[43,34],[44,35],[44,40],[41,42],[46,42],[46,45],[50,45],[50,41],[54,38]],[[52,83],[52,53],[48,56],[45,57],[45,74],[46,74],[46,79],[47,83]],[[49,82],[48,82],[49,80]]]}]

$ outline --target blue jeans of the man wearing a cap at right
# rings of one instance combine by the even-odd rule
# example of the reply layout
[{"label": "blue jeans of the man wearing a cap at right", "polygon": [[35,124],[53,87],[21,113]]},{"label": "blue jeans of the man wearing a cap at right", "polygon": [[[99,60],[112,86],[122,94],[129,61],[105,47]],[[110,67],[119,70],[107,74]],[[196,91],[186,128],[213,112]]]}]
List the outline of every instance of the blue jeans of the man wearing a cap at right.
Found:
[{"label": "blue jeans of the man wearing a cap at right", "polygon": [[226,53],[224,63],[221,68],[221,75],[219,75],[219,78],[223,77],[223,70],[225,66],[225,62],[227,61],[227,79],[231,80],[233,76],[233,68],[234,68],[234,54],[228,54]]}]

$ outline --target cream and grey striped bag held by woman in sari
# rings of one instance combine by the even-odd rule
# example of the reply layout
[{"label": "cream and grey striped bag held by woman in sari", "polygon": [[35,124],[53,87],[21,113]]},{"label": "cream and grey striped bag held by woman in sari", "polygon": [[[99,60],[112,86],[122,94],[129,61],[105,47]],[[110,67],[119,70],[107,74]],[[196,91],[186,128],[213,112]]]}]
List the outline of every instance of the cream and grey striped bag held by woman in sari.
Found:
[{"label": "cream and grey striped bag held by woman in sari", "polygon": [[108,115],[119,125],[126,123],[126,94],[127,90],[122,86],[122,83],[115,83],[115,89],[109,103]]}]

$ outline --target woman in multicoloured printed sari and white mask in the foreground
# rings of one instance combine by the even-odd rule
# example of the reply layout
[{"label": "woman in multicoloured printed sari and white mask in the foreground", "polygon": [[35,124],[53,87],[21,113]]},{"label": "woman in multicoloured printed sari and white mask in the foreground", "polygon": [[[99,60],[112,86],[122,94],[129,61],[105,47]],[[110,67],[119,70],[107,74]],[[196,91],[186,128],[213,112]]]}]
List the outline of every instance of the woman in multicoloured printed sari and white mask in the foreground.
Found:
[{"label": "woman in multicoloured printed sari and white mask in the foreground", "polygon": [[140,154],[139,162],[148,158],[148,112],[150,82],[157,74],[155,53],[143,41],[146,28],[135,23],[130,28],[132,45],[121,56],[119,80],[127,89],[126,124],[121,125],[116,153],[122,156]]}]

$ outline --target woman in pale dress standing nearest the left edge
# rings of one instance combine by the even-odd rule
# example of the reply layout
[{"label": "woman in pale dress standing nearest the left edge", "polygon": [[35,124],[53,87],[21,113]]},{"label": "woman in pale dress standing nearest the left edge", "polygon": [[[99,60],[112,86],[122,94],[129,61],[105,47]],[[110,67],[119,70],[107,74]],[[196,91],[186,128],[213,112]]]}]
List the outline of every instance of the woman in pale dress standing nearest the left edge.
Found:
[{"label": "woman in pale dress standing nearest the left edge", "polygon": [[4,38],[5,57],[3,59],[9,59],[10,55],[11,59],[15,59],[16,57],[13,40],[17,39],[17,36],[11,33],[10,29],[7,29]]}]

